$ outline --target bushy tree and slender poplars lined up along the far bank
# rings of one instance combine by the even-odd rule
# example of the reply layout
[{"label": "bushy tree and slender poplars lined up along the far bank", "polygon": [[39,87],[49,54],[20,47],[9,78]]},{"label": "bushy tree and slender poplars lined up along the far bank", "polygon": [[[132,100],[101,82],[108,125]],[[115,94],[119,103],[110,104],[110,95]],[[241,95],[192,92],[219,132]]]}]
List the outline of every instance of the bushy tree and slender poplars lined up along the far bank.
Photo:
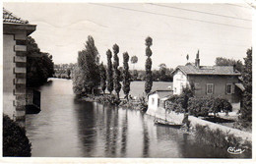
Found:
[{"label": "bushy tree and slender poplars lined up along the far bank", "polygon": [[[152,38],[146,38],[146,82],[145,92],[149,93],[153,85],[152,76]],[[112,56],[113,52],[113,56]],[[114,44],[106,51],[107,65],[99,64],[99,55],[96,49],[95,40],[92,36],[88,36],[85,48],[78,52],[78,67],[74,72],[73,90],[78,95],[93,94],[94,90],[100,86],[105,93],[105,89],[111,94],[114,90],[118,99],[121,88],[128,98],[130,92],[131,74],[129,71],[129,54],[123,53],[123,68],[119,67],[119,46]],[[113,58],[113,62],[112,62]],[[122,82],[122,84],[121,84]]]}]

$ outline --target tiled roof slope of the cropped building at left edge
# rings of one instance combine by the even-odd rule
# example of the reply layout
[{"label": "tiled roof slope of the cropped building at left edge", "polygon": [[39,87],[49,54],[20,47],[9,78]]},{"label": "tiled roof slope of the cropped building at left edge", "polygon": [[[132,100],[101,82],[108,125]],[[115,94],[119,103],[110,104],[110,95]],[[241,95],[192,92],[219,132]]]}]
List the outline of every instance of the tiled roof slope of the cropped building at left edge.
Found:
[{"label": "tiled roof slope of the cropped building at left edge", "polygon": [[23,20],[17,16],[15,16],[13,13],[9,12],[5,8],[3,9],[3,23],[8,24],[29,24],[29,21]]}]

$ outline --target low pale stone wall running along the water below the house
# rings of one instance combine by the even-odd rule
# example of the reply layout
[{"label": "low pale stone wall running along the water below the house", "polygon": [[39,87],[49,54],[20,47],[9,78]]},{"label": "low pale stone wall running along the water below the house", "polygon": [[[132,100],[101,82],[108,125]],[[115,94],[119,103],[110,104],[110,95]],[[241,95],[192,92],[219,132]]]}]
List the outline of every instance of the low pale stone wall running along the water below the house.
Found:
[{"label": "low pale stone wall running along the water below the house", "polygon": [[[150,110],[148,109],[147,114],[151,116],[155,116],[156,118],[166,120],[168,122],[173,122],[175,124],[182,124],[182,121],[184,119],[184,114],[177,114],[175,112],[166,112],[164,108],[159,107],[158,110]],[[200,118],[189,116],[188,120],[190,121],[191,128],[195,128],[196,125],[201,126],[208,126],[211,130],[221,130],[224,133],[227,133],[229,135],[234,135],[235,137],[241,137],[243,141],[252,141],[252,134],[243,132],[237,129],[229,128],[220,124],[212,123],[209,121],[202,120]]]}]

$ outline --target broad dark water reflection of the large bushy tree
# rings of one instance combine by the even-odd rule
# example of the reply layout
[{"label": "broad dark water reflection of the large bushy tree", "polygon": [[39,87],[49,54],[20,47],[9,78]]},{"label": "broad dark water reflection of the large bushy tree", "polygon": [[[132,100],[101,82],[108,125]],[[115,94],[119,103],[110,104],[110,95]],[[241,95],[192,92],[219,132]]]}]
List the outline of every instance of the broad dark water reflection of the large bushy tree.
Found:
[{"label": "broad dark water reflection of the large bushy tree", "polygon": [[78,132],[83,143],[83,156],[91,157],[94,154],[93,150],[96,142],[94,105],[92,102],[80,101],[76,106],[76,110],[78,117]]}]

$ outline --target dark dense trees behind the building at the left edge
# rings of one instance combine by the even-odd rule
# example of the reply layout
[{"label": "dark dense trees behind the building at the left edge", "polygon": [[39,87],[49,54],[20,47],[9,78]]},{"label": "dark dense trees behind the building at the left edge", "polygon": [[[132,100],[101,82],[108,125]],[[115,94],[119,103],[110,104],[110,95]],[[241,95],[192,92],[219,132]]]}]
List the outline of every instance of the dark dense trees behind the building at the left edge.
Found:
[{"label": "dark dense trees behind the building at the left edge", "polygon": [[42,85],[54,74],[52,56],[41,52],[31,36],[27,39],[27,51],[27,86]]}]

